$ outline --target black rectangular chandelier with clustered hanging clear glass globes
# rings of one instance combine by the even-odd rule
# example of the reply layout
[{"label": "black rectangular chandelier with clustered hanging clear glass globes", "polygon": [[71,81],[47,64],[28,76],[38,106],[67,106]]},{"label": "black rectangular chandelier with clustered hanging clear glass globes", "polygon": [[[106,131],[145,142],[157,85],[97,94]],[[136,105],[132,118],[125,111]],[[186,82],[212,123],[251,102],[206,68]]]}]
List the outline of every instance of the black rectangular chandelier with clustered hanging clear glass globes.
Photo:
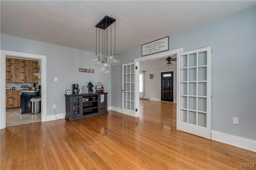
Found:
[{"label": "black rectangular chandelier with clustered hanging clear glass globes", "polygon": [[[109,16],[105,16],[97,25],[96,25],[96,53],[93,59],[96,66],[100,66],[100,72],[109,73],[111,72],[111,64],[117,65],[120,63],[116,57],[116,23],[114,30],[114,53],[112,52],[112,23],[116,20]],[[108,27],[110,26],[110,34]],[[98,29],[98,35],[97,35]],[[102,29],[102,34],[100,35],[100,29]],[[109,39],[110,35],[110,39]],[[102,57],[100,57],[100,37],[102,37]],[[98,39],[98,43],[97,43]],[[110,42],[109,42],[110,40]],[[110,45],[109,45],[110,44]],[[108,55],[110,47],[110,53]],[[97,52],[98,49],[98,52]]]}]

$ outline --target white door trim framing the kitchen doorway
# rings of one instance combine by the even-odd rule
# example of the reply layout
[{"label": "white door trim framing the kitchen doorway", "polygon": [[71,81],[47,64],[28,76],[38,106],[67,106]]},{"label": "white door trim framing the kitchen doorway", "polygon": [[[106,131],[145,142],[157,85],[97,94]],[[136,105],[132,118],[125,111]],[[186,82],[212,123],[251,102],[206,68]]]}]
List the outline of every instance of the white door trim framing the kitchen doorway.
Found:
[{"label": "white door trim framing the kitchen doorway", "polygon": [[6,127],[6,111],[5,111],[5,58],[6,55],[19,57],[24,59],[37,59],[41,60],[41,100],[42,100],[42,117],[41,121],[46,121],[46,56],[44,55],[35,55],[28,53],[19,53],[14,51],[6,51],[1,50],[1,58],[0,58],[0,129],[4,129]]}]

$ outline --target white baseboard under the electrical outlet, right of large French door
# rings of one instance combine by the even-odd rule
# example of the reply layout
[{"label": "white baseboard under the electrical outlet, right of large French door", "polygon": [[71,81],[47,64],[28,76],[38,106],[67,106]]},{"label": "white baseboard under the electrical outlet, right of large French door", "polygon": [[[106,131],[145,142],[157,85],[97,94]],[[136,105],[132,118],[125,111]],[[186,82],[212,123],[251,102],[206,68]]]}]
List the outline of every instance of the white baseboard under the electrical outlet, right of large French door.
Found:
[{"label": "white baseboard under the electrical outlet, right of large French door", "polygon": [[212,131],[212,140],[256,152],[256,141],[250,139]]}]

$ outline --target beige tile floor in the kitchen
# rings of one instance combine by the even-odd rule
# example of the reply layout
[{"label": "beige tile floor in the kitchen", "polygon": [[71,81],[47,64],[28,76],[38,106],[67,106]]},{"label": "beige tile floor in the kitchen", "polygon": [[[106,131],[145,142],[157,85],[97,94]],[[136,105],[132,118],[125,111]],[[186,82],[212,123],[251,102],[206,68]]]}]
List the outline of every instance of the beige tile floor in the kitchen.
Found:
[{"label": "beige tile floor in the kitchen", "polygon": [[6,127],[41,121],[41,113],[20,114],[20,108],[6,109]]}]

